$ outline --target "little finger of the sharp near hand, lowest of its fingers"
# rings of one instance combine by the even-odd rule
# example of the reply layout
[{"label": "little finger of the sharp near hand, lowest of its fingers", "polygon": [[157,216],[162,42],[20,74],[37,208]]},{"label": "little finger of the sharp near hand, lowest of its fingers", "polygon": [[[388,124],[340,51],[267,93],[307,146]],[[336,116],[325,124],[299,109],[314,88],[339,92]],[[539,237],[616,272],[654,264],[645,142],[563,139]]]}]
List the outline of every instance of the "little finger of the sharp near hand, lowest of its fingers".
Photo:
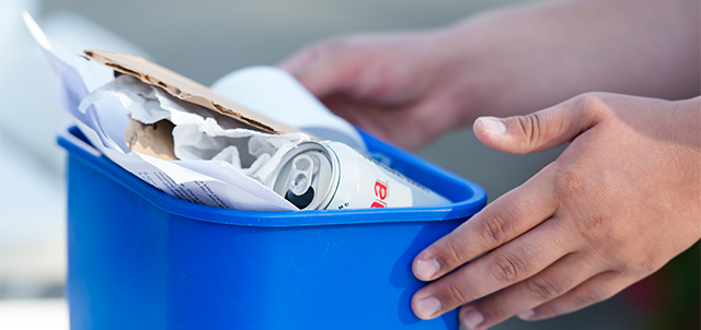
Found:
[{"label": "little finger of the sharp near hand, lowest of its fingers", "polygon": [[604,272],[555,299],[521,311],[518,317],[522,320],[540,320],[573,313],[612,297],[637,280],[614,271]]}]

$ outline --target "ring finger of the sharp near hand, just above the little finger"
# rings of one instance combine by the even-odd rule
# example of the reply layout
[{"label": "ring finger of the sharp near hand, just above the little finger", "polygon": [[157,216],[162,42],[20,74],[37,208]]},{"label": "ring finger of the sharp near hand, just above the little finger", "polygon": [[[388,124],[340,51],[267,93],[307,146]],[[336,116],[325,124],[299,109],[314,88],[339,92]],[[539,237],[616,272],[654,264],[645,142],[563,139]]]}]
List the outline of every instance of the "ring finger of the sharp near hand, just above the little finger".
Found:
[{"label": "ring finger of the sharp near hand, just above the little finger", "polygon": [[467,329],[492,327],[566,294],[601,271],[582,252],[568,254],[540,273],[463,306],[460,320]]}]

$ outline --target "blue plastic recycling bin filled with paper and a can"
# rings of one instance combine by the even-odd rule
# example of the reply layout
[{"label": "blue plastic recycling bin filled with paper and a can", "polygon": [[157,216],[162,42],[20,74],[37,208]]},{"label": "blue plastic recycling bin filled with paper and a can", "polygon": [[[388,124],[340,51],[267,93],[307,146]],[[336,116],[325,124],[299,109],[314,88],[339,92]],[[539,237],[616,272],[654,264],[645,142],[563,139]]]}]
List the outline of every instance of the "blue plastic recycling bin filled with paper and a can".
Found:
[{"label": "blue plastic recycling bin filled with paper and a can", "polygon": [[371,154],[455,201],[429,208],[255,212],[173,198],[77,127],[68,151],[70,326],[80,329],[458,329],[421,320],[414,257],[480,211],[478,185],[363,134]]}]

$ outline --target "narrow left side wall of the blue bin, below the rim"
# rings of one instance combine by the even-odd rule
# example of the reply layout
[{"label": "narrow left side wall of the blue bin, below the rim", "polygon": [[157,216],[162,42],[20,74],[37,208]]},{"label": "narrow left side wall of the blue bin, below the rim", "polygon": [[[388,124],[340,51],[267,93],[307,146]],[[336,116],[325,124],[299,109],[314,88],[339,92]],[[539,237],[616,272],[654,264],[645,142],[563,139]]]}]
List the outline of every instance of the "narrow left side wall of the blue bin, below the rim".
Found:
[{"label": "narrow left side wall of the blue bin, below the rim", "polygon": [[71,329],[165,329],[169,214],[72,156],[68,191]]}]

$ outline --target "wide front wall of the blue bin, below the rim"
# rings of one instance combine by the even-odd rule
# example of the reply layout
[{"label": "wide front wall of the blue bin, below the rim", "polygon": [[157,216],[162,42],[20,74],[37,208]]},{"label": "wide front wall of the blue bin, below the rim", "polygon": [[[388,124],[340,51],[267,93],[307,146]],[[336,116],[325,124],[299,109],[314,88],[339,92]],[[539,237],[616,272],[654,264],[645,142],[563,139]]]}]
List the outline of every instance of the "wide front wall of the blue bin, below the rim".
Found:
[{"label": "wide front wall of the blue bin, below the rim", "polygon": [[173,223],[170,329],[457,328],[455,315],[420,321],[410,300],[423,286],[411,271],[414,256],[459,221],[267,229]]}]

